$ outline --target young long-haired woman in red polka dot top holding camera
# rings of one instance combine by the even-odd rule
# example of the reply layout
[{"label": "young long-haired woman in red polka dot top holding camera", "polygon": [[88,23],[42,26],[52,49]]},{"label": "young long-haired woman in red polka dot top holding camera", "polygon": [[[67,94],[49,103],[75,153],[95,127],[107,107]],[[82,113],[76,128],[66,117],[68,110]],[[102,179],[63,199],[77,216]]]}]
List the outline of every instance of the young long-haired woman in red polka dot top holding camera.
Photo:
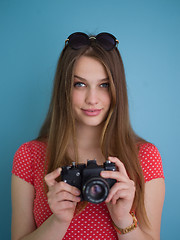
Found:
[{"label": "young long-haired woman in red polka dot top holding camera", "polygon": [[[12,240],[160,239],[164,175],[157,148],[131,128],[118,40],[71,34],[58,61],[47,118],[15,154]],[[105,201],[81,201],[62,167],[106,160],[115,179]]]}]

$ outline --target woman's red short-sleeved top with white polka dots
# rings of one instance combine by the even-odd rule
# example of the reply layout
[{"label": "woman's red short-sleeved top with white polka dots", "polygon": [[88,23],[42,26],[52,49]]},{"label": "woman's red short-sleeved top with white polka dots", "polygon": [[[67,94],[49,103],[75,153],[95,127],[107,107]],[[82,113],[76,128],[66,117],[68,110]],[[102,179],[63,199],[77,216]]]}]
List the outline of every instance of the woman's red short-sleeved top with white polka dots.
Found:
[{"label": "woman's red short-sleeved top with white polka dots", "polygon": [[[27,142],[17,150],[12,169],[13,174],[32,184],[35,188],[34,218],[37,227],[52,214],[43,186],[45,155],[45,143]],[[153,144],[142,144],[139,157],[145,182],[155,178],[164,178],[161,156]],[[118,239],[105,203],[88,203],[79,212],[78,208],[82,208],[82,204],[83,202],[77,207],[63,240]]]}]

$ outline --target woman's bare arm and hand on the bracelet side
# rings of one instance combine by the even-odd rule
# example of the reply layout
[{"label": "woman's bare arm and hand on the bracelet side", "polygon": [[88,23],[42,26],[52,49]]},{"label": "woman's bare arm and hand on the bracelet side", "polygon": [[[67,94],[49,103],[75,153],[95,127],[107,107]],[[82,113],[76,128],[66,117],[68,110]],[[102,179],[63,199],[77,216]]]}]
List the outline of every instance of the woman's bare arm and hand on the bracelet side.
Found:
[{"label": "woman's bare arm and hand on the bracelet side", "polygon": [[[134,199],[135,185],[129,179],[125,167],[119,159],[109,158],[109,160],[116,164],[119,171],[101,173],[103,177],[117,180],[117,183],[110,190],[106,203],[114,223],[119,228],[124,229],[132,224],[132,216],[129,212]],[[138,216],[138,227],[127,234],[118,234],[118,238],[121,240],[159,240],[164,193],[163,179],[147,182],[145,184],[145,208],[150,221],[150,228],[145,227],[140,216]]]}]

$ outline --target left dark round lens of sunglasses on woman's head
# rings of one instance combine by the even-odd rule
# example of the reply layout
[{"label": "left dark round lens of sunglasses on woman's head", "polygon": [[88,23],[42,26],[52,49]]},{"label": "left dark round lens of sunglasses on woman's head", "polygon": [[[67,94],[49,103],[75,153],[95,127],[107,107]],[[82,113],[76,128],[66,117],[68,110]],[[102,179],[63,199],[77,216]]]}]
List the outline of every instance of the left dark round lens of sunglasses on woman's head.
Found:
[{"label": "left dark round lens of sunglasses on woman's head", "polygon": [[89,37],[85,33],[73,33],[68,37],[68,39],[69,46],[75,50],[78,50],[85,45],[89,45]]}]

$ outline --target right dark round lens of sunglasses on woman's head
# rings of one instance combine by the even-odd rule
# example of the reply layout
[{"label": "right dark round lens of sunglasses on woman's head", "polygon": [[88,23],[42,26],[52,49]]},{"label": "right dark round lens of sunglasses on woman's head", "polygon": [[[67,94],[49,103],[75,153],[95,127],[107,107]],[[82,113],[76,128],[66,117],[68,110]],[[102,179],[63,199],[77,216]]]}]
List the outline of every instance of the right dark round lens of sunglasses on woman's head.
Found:
[{"label": "right dark round lens of sunglasses on woman's head", "polygon": [[110,33],[100,33],[96,36],[96,40],[106,51],[116,46],[116,38]]}]

